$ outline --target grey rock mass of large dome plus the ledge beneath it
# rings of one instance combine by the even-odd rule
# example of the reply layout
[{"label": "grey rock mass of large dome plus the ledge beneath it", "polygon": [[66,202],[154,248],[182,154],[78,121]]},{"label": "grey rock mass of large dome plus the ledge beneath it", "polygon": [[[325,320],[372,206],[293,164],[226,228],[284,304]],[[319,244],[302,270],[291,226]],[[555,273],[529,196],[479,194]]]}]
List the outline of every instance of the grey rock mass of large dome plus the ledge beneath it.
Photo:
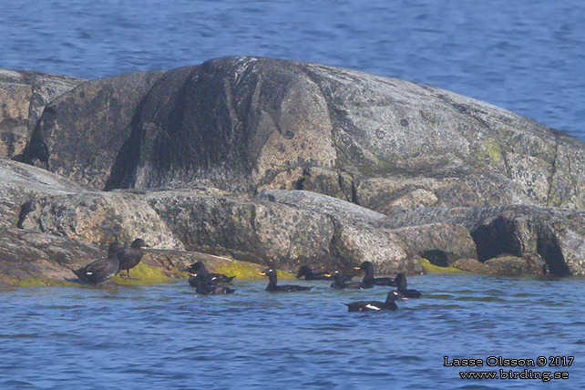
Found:
[{"label": "grey rock mass of large dome plus the ledge beneath it", "polygon": [[88,81],[46,106],[18,159],[36,167],[0,159],[11,242],[585,274],[585,144],[393,78],[230,57]]}]

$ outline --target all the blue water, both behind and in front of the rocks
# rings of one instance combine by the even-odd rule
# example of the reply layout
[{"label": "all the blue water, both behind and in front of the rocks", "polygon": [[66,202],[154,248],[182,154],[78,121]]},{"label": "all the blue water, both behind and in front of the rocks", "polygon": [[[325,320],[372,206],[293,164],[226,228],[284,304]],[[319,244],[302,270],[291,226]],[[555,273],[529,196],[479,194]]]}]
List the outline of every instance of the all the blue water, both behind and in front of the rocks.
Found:
[{"label": "all the blue water, both behind and in front of the rocks", "polygon": [[[585,139],[585,2],[2,0],[0,67],[77,77],[270,56],[442,87]],[[585,388],[583,279],[420,276],[387,290],[201,297],[154,287],[0,292],[0,389]],[[309,282],[306,282],[309,284]],[[570,379],[462,380],[449,358],[574,356]],[[481,367],[483,371],[523,367]],[[477,369],[477,371],[480,371]]]}]

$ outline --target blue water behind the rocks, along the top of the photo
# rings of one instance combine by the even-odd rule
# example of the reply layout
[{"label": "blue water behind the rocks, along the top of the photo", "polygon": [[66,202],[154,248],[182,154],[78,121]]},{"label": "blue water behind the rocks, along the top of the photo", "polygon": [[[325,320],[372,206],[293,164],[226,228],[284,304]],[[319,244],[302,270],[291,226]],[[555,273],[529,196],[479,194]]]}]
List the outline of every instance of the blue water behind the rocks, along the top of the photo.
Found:
[{"label": "blue water behind the rocks, along the top of the photo", "polygon": [[585,3],[3,0],[0,67],[83,78],[267,56],[474,97],[585,140]]}]

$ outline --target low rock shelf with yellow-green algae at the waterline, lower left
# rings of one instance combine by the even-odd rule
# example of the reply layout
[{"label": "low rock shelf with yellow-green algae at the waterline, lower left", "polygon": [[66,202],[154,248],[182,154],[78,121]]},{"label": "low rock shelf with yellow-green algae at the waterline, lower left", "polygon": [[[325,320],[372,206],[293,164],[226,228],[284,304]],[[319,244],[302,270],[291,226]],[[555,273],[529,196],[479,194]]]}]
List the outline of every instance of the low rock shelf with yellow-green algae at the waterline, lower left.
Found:
[{"label": "low rock shelf with yellow-green algae at the waterline, lower left", "polygon": [[[73,270],[106,257],[107,248],[55,234],[0,228],[0,286],[76,285]],[[137,281],[114,278],[118,284],[150,284],[185,278],[188,264],[205,262],[210,271],[240,279],[258,278],[261,266],[192,251],[147,250],[133,275]]]}]

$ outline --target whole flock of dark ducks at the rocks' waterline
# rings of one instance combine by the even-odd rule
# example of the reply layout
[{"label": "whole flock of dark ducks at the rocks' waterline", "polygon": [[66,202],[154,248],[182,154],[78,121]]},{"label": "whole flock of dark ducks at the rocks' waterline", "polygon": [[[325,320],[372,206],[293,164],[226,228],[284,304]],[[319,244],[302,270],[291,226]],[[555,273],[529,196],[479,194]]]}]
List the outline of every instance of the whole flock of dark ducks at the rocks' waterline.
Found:
[{"label": "whole flock of dark ducks at the rocks' waterline", "polygon": [[[149,245],[142,239],[134,240],[128,248],[123,247],[118,241],[112,242],[109,245],[108,257],[106,259],[91,262],[74,272],[82,282],[90,284],[106,282],[118,273],[120,273],[120,277],[133,279],[130,277],[130,269],[139,264],[144,254],[144,251],[142,251],[144,247],[149,247]],[[354,269],[364,271],[364,278],[361,282],[352,281],[353,276],[345,275],[341,271],[314,273],[306,265],[303,265],[299,269],[296,277],[302,278],[304,276],[306,281],[331,280],[334,281],[331,284],[331,288],[336,290],[366,290],[374,286],[396,287],[396,290],[388,292],[385,302],[359,301],[344,303],[347,306],[348,312],[394,311],[398,309],[395,303],[397,300],[421,297],[420,292],[407,288],[404,273],[398,273],[395,278],[376,278],[374,275],[374,264],[372,262],[362,262],[359,267],[354,267]],[[126,276],[122,274],[124,270],[126,270]],[[185,271],[190,273],[189,284],[195,287],[197,293],[202,295],[221,295],[235,292],[235,289],[225,285],[230,283],[235,276],[208,272],[205,264],[202,262],[191,264]],[[313,288],[313,286],[300,286],[295,284],[279,285],[276,270],[272,268],[267,268],[260,272],[260,274],[268,277],[267,292],[306,292]]]}]

